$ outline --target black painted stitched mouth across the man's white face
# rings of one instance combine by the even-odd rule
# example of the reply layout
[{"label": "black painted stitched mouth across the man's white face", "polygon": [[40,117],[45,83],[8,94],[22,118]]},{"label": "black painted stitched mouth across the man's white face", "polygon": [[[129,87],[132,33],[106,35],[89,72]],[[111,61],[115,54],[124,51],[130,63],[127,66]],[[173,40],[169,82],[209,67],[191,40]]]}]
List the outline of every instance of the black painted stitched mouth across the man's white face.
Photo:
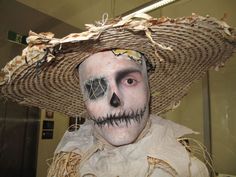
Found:
[{"label": "black painted stitched mouth across the man's white face", "polygon": [[93,120],[94,124],[99,127],[103,127],[106,124],[108,126],[119,126],[122,122],[125,122],[128,127],[128,125],[131,124],[131,120],[140,123],[145,110],[146,106],[143,109],[137,109],[136,111],[131,110],[128,113],[124,111],[115,114],[107,114],[106,117],[92,117],[91,120]]}]

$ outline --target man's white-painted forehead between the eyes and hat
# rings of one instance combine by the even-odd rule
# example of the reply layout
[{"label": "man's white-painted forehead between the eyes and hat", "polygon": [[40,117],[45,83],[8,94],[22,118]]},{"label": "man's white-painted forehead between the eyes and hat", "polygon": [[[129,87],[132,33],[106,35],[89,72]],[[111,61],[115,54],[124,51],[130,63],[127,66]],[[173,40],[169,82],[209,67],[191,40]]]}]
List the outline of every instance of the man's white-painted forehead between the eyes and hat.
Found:
[{"label": "man's white-painted forehead between the eyes and hat", "polygon": [[88,57],[79,66],[80,77],[112,75],[124,69],[141,69],[137,64],[125,55],[115,56],[111,51],[99,52]]}]

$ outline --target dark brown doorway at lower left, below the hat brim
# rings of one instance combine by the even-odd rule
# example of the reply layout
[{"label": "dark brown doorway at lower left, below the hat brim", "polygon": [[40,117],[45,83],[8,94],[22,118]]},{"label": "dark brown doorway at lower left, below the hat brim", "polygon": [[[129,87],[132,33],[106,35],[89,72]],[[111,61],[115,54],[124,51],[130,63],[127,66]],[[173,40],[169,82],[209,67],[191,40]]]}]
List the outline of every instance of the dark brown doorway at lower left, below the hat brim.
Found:
[{"label": "dark brown doorway at lower left, below the hat brim", "polygon": [[0,176],[35,177],[39,109],[0,102]]}]

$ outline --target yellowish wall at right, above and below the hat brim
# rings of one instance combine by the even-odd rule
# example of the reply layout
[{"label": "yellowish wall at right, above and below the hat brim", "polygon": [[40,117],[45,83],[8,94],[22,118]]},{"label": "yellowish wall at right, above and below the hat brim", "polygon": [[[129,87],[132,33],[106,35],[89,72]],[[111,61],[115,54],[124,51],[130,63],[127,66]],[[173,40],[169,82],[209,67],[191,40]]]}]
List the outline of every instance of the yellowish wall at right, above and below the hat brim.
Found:
[{"label": "yellowish wall at right, above and below the hat brim", "polygon": [[[222,18],[236,27],[235,0],[180,0],[161,11],[151,14],[168,17],[189,16],[191,13]],[[236,174],[236,56],[219,72],[210,72],[210,100],[212,126],[212,157],[215,169],[220,173]],[[191,88],[180,107],[166,114],[166,117],[201,133],[196,137],[203,140],[203,98],[202,83],[198,81]]]}]

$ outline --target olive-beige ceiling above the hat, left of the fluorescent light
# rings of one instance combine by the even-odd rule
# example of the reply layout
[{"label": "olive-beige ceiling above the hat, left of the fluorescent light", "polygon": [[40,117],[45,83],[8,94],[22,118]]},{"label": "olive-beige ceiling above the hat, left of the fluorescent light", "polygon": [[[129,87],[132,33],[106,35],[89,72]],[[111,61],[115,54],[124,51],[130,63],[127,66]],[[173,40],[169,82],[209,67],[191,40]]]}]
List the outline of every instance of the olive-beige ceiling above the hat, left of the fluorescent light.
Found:
[{"label": "olive-beige ceiling above the hat, left of the fluorescent light", "polygon": [[84,24],[101,20],[103,13],[119,16],[153,0],[17,0],[69,25],[83,29]]}]

